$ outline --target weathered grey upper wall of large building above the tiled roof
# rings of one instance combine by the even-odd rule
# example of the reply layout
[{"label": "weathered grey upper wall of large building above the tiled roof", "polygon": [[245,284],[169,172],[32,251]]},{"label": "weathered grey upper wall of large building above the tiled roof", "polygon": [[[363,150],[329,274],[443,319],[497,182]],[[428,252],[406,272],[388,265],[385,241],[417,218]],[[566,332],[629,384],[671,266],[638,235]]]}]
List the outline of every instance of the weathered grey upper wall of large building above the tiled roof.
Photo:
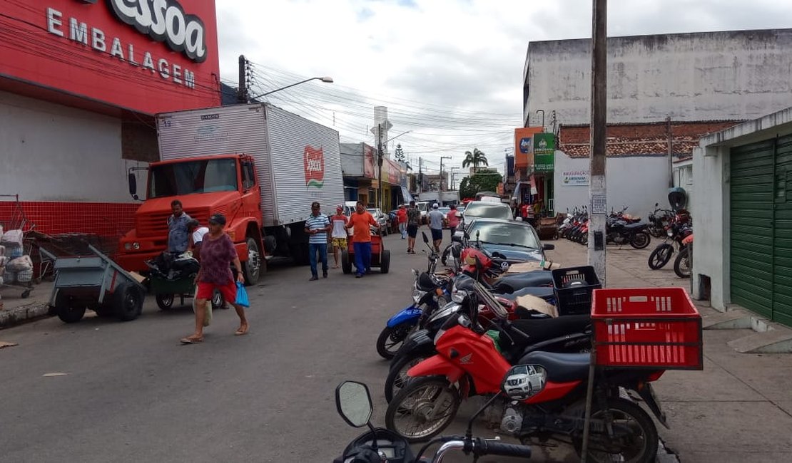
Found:
[{"label": "weathered grey upper wall of large building above the tiled roof", "polygon": [[[792,29],[607,40],[607,122],[753,119],[790,106]],[[588,123],[590,40],[528,44],[524,122]],[[529,120],[530,119],[530,120]]]}]

